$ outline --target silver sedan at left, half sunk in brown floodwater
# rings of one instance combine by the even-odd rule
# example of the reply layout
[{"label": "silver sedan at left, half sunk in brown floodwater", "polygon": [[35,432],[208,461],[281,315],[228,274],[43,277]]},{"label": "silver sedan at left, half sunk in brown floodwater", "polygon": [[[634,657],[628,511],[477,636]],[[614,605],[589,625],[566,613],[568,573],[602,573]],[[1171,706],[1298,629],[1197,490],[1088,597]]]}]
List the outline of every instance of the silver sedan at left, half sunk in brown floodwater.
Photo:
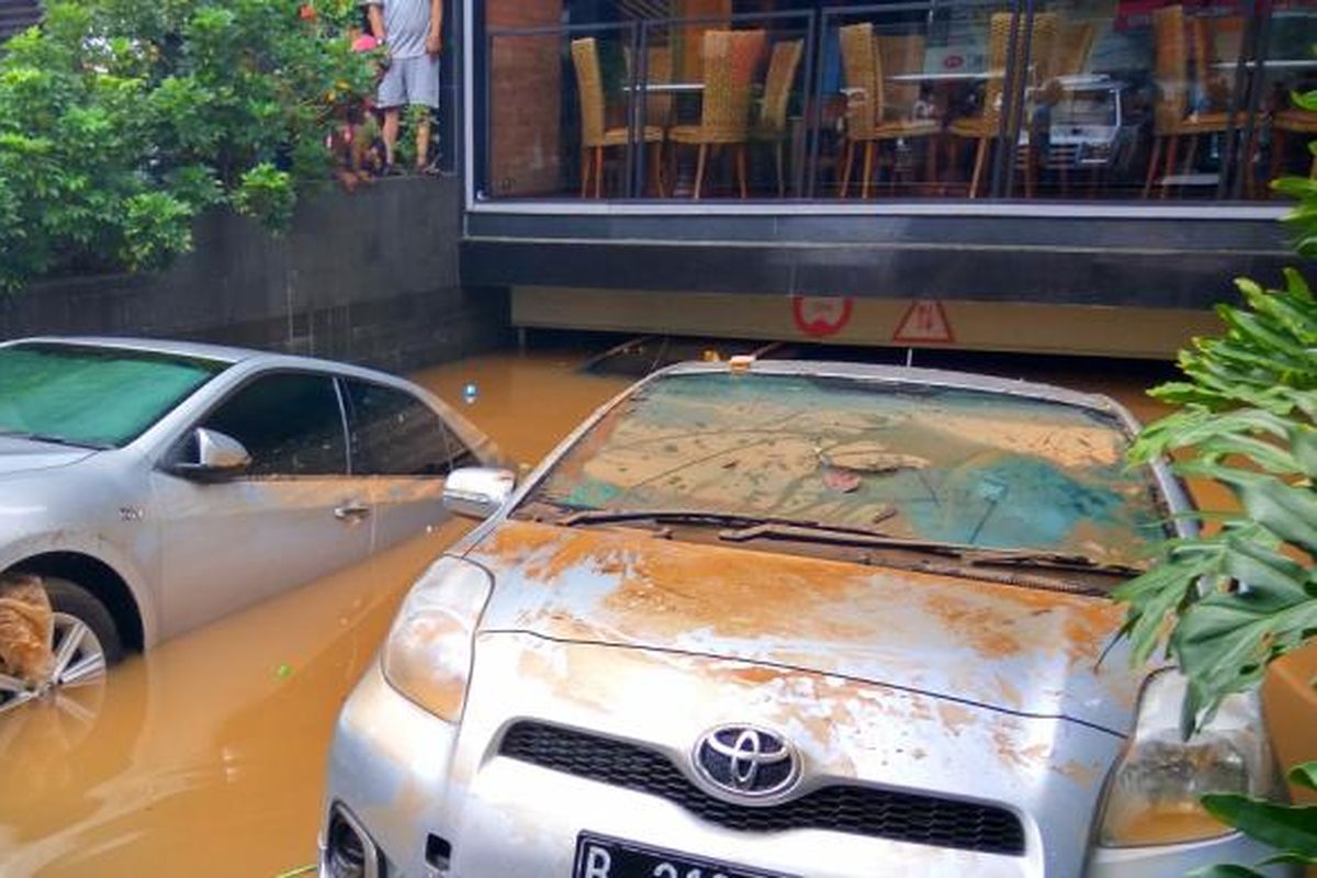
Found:
[{"label": "silver sedan at left, half sunk in brown floodwater", "polygon": [[234,348],[0,345],[0,573],[40,575],[55,661],[0,713],[357,563],[446,515],[495,449],[410,382]]}]

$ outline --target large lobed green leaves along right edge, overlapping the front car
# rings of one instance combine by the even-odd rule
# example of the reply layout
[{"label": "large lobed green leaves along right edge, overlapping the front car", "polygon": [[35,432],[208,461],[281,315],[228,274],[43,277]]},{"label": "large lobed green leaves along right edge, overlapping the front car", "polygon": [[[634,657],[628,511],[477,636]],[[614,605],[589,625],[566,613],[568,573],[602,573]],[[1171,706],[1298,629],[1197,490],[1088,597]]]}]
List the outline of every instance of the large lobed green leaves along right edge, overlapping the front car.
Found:
[{"label": "large lobed green leaves along right edge, overlapping the front car", "polygon": [[[1317,92],[1295,100],[1317,109]],[[1275,188],[1297,199],[1287,219],[1299,251],[1317,253],[1317,182],[1287,178]],[[1222,698],[1258,686],[1272,661],[1317,638],[1317,299],[1293,270],[1280,290],[1238,286],[1243,307],[1217,308],[1225,334],[1195,340],[1180,354],[1185,380],[1152,391],[1177,411],[1131,450],[1134,463],[1176,453],[1179,474],[1220,482],[1239,504],[1198,516],[1217,529],[1166,541],[1159,563],[1115,592],[1129,604],[1123,632],[1137,659],[1164,646],[1189,681],[1185,736]],[[1317,762],[1289,778],[1317,788]],[[1317,807],[1234,794],[1202,803],[1275,848],[1267,862],[1317,864]],[[1241,865],[1197,874],[1258,875]]]}]

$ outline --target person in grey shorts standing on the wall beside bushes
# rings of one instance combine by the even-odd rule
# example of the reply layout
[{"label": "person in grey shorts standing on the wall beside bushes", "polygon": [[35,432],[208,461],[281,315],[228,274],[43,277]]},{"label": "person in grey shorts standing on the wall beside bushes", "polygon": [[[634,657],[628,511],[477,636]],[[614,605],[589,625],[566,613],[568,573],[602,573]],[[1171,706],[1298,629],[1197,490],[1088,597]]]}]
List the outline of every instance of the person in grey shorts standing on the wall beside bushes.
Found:
[{"label": "person in grey shorts standing on the wall beside bushes", "polygon": [[394,172],[403,107],[425,107],[416,128],[416,168],[429,158],[431,116],[439,108],[439,53],[443,49],[444,0],[366,0],[370,32],[389,53],[379,82],[385,113],[386,172]]}]

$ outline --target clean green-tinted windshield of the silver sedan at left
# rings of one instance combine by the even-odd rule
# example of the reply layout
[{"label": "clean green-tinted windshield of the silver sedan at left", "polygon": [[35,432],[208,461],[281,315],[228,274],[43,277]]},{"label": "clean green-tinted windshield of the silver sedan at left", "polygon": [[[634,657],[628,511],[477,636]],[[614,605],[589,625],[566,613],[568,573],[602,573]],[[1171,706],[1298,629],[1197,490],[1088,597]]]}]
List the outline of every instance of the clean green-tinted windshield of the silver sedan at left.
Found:
[{"label": "clean green-tinted windshield of the silver sedan at left", "polygon": [[0,348],[0,436],[120,448],[227,366],[90,345]]}]

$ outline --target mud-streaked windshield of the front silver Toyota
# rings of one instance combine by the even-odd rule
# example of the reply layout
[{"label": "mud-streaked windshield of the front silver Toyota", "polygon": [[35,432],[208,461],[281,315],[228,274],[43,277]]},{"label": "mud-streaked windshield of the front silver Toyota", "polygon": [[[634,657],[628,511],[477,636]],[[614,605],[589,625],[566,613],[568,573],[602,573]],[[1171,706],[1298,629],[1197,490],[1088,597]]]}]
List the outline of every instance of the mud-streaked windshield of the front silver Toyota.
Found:
[{"label": "mud-streaked windshield of the front silver Toyota", "polygon": [[1126,470],[1126,445],[1113,416],[1009,394],[669,375],[576,442],[528,503],[761,516],[1131,565],[1164,515],[1147,470]]}]

